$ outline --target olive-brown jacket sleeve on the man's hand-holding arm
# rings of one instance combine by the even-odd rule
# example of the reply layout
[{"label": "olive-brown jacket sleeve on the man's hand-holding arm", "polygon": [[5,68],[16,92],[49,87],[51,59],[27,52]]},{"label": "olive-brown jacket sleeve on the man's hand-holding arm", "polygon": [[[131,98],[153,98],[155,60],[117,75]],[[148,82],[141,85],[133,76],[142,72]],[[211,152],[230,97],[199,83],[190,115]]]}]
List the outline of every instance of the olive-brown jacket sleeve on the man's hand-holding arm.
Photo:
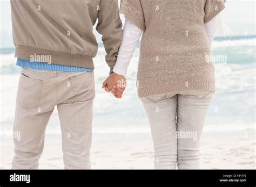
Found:
[{"label": "olive-brown jacket sleeve on the man's hand-holding arm", "polygon": [[100,0],[98,25],[96,30],[103,35],[102,41],[106,50],[106,63],[110,74],[117,61],[118,49],[122,43],[122,21],[119,17],[118,0]]}]

